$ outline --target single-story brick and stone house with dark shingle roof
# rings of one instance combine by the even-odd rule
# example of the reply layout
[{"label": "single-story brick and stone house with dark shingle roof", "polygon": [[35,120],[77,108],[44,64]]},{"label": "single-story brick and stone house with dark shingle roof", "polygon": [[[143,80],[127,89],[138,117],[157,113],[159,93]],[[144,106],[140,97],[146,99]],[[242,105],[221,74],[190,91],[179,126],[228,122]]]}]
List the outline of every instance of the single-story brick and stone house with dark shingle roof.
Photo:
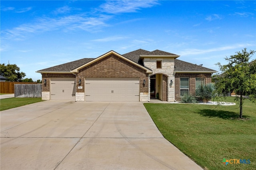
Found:
[{"label": "single-story brick and stone house with dark shingle roof", "polygon": [[36,71],[42,74],[43,100],[162,101],[195,94],[215,70],[178,60],[165,51],[138,49],[123,55],[109,51]]}]

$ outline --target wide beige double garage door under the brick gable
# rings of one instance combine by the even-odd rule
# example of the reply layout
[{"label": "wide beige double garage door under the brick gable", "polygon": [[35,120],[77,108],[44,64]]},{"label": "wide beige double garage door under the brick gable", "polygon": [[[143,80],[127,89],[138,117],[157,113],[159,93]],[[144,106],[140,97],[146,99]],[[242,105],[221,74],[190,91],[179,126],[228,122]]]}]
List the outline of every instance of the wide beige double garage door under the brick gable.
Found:
[{"label": "wide beige double garage door under the brick gable", "polygon": [[139,101],[139,78],[86,78],[85,101]]}]

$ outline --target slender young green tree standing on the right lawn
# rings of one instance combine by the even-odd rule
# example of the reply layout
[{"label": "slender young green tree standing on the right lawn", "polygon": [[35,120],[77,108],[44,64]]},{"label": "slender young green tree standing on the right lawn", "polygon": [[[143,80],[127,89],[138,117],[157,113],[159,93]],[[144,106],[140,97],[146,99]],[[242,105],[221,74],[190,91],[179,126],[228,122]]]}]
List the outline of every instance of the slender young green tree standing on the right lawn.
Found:
[{"label": "slender young green tree standing on the right lawn", "polygon": [[226,57],[228,64],[221,65],[217,63],[222,74],[218,76],[216,81],[216,91],[218,94],[226,95],[229,92],[235,92],[240,96],[236,96],[235,100],[239,102],[240,118],[243,115],[243,95],[249,95],[252,102],[256,101],[256,62],[249,62],[250,57],[256,51],[236,52],[236,55]]}]

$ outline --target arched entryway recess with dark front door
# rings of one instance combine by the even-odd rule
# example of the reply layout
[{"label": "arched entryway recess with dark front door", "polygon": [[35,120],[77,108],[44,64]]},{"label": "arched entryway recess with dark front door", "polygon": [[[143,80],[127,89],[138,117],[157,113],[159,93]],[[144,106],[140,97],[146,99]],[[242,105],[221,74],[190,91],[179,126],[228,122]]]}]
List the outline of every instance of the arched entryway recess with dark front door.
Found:
[{"label": "arched entryway recess with dark front door", "polygon": [[162,73],[150,75],[150,99],[167,101],[167,77]]}]

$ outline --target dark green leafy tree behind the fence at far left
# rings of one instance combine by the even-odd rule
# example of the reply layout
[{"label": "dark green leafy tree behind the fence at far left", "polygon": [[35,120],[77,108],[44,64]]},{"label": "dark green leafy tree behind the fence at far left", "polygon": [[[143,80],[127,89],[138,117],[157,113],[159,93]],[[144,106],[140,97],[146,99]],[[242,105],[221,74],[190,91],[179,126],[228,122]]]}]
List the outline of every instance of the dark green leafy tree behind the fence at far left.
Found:
[{"label": "dark green leafy tree behind the fence at far left", "polygon": [[22,81],[25,73],[20,72],[20,67],[16,64],[0,64],[0,74],[7,78],[6,81]]}]

